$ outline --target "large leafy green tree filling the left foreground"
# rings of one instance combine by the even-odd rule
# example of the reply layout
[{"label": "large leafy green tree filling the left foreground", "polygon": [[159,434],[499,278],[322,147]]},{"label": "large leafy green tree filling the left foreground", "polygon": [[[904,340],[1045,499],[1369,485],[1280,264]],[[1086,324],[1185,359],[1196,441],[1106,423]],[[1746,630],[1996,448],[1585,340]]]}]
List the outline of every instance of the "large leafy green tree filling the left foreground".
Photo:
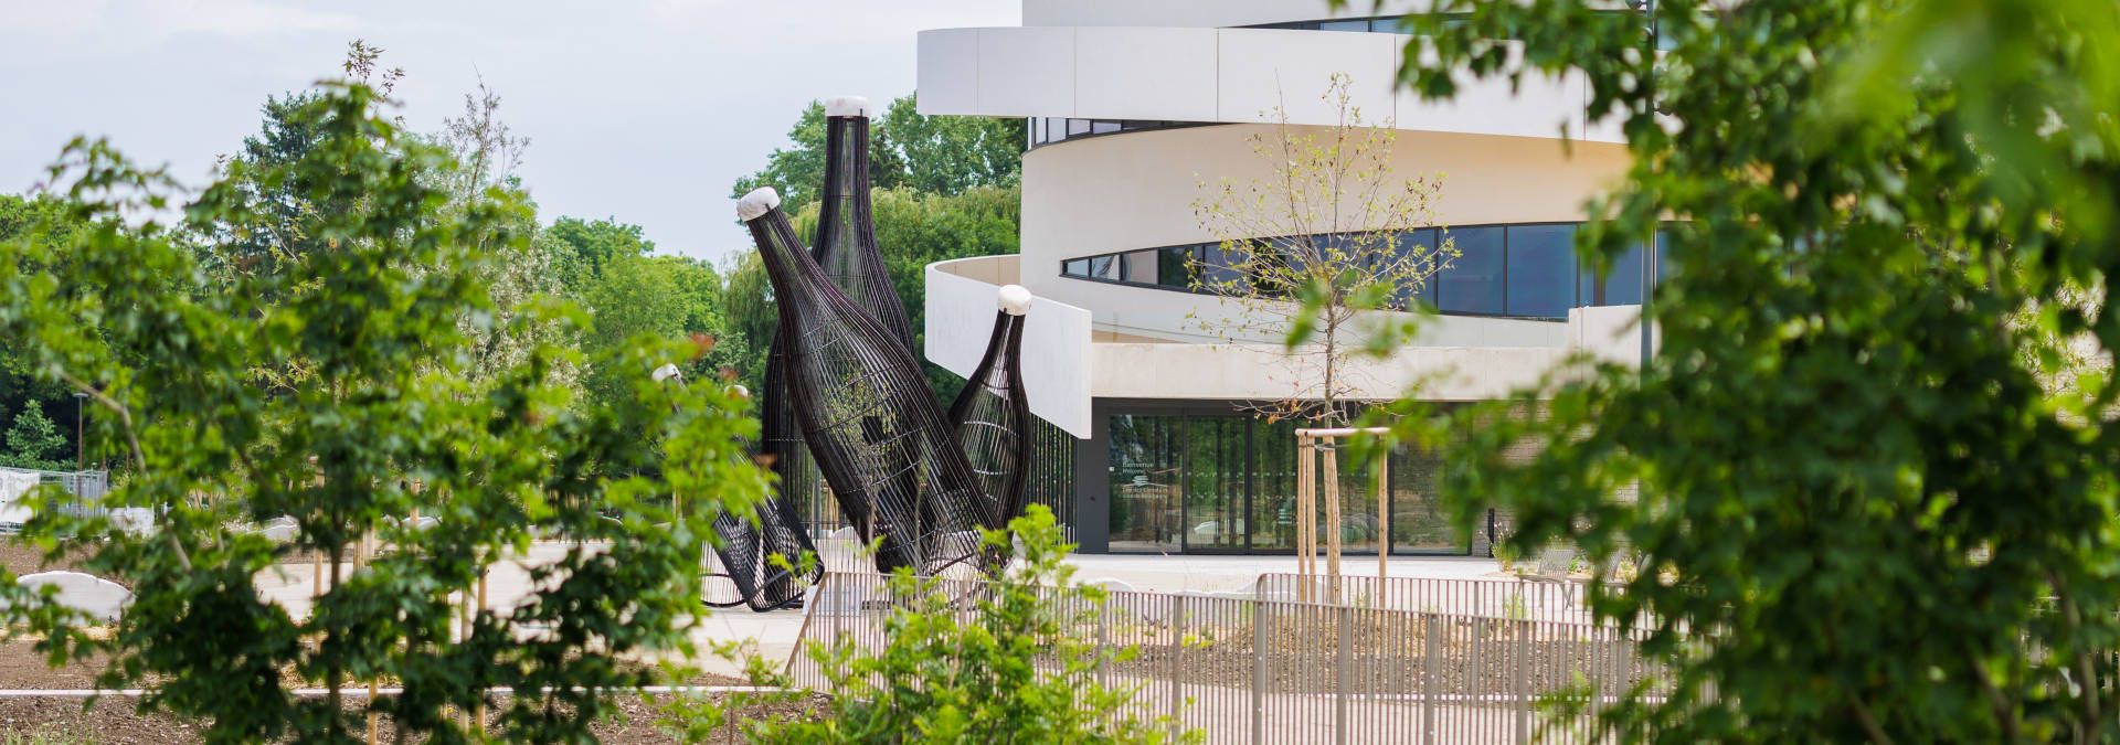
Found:
[{"label": "large leafy green tree filling the left foreground", "polygon": [[[445,210],[428,169],[447,155],[386,112],[375,89],[326,83],[288,114],[316,142],[244,176],[316,205],[305,220],[331,250],[227,277],[182,235],[227,237],[231,220],[250,220],[252,180],[199,190],[182,235],[153,218],[121,231],[112,216],[167,203],[176,186],[102,142],[61,155],[53,182],[93,229],[61,246],[0,243],[0,343],[100,408],[134,470],[106,504],[153,514],[153,529],[114,531],[49,504],[28,527],[53,557],[87,555],[89,571],[131,586],[110,635],[81,633],[4,569],[0,610],[42,635],[53,662],[110,654],[104,686],[151,688],[144,709],[210,720],[216,743],[350,743],[363,707],[343,709],[339,692],[373,679],[403,684],[365,701],[399,732],[481,737],[445,711],[490,705],[502,739],[583,741],[606,711],[600,688],[649,682],[623,656],[687,650],[706,525],[767,489],[736,444],[757,423],[721,387],[649,381],[653,364],[687,353],[651,337],[589,360],[642,370],[604,408],[579,411],[551,381],[577,356],[555,345],[475,385],[458,320],[492,311],[481,265],[505,256],[488,248],[528,239],[513,229],[522,205]],[[250,370],[282,360],[305,360],[314,383],[252,385]],[[672,512],[672,493],[695,497]],[[439,527],[399,521],[413,510]],[[293,544],[229,529],[273,516],[297,521]],[[261,599],[261,571],[310,550],[339,567],[365,535],[392,548],[331,571],[307,618]],[[522,603],[473,612],[458,639],[452,593],[534,535],[579,548],[541,563]],[[515,696],[488,698],[490,686]]]}]

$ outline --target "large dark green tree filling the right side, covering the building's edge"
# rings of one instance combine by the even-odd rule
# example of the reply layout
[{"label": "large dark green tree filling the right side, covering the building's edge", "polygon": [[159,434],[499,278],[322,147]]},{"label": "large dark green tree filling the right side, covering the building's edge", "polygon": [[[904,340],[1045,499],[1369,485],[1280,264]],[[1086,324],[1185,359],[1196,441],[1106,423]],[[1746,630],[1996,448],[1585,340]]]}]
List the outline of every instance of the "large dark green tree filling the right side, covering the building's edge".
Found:
[{"label": "large dark green tree filling the right side, covering the building's edge", "polygon": [[1668,252],[1658,353],[1471,406],[1446,491],[1582,546],[1594,610],[1647,626],[1668,677],[1603,709],[1618,739],[2120,739],[2120,385],[2025,362],[2120,343],[2120,6],[1649,6],[1412,19],[1423,95],[1582,74],[1632,167],[1579,250]]}]

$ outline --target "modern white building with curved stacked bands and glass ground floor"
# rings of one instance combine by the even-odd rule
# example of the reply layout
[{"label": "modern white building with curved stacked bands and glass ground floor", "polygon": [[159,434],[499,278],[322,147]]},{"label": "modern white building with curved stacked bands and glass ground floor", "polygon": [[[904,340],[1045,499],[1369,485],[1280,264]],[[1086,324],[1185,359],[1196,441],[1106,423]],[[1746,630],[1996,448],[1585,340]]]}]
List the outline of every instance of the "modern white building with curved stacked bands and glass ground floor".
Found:
[{"label": "modern white building with curved stacked bands and glass ground floor", "polygon": [[[1289,366],[1274,337],[1217,326],[1234,307],[1194,292],[1185,267],[1219,250],[1194,212],[1200,184],[1272,174],[1249,138],[1276,106],[1295,125],[1333,123],[1319,102],[1333,74],[1365,119],[1399,129],[1397,174],[1444,174],[1433,207],[1461,252],[1423,290],[1437,317],[1359,370],[1361,398],[1480,400],[1575,349],[1635,353],[1641,252],[1601,279],[1571,250],[1586,197],[1628,165],[1618,131],[1586,110],[1584,80],[1420,102],[1393,85],[1408,42],[1393,30],[1412,4],[1353,6],[1024,0],[1022,28],[920,34],[924,114],[1030,121],[1022,254],[929,267],[924,351],[969,373],[994,288],[1039,296],[1024,377],[1032,413],[1081,438],[1062,514],[1085,552],[1293,550],[1293,423],[1244,411],[1283,398]],[[1433,453],[1395,457],[1384,527],[1374,493],[1350,489],[1350,550],[1389,538],[1391,552],[1484,552],[1490,527],[1439,516],[1437,468]]]}]

